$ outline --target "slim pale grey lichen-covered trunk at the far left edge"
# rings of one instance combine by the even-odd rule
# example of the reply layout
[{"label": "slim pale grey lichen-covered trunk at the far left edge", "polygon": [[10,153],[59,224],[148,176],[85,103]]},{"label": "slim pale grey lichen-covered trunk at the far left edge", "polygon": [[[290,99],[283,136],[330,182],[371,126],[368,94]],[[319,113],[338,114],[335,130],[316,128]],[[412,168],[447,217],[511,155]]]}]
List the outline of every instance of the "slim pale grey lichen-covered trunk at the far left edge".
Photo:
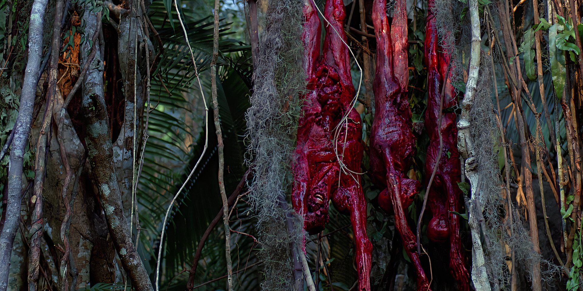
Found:
[{"label": "slim pale grey lichen-covered trunk at the far left edge", "polygon": [[29,140],[33,118],[34,98],[41,58],[43,58],[43,16],[48,0],[35,0],[30,12],[29,59],[24,72],[18,119],[14,126],[14,139],[10,149],[8,169],[8,204],[4,212],[5,222],[0,233],[0,291],[8,288],[8,274],[12,244],[20,222],[20,198],[22,192],[23,157]]}]

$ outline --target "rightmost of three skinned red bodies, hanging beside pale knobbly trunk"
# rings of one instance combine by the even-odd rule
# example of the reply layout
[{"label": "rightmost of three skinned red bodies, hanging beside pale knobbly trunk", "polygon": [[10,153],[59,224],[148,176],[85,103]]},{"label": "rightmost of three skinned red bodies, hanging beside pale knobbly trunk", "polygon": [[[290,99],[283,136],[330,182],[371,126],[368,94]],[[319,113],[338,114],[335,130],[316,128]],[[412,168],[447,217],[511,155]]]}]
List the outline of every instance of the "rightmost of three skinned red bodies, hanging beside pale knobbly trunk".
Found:
[{"label": "rightmost of three skinned red bodies, hanging beside pale knobbly trunk", "polygon": [[425,37],[425,62],[428,73],[425,125],[430,137],[425,164],[427,177],[432,175],[437,162],[440,151],[440,134],[443,147],[433,183],[429,193],[427,193],[427,204],[432,215],[427,226],[427,236],[433,242],[449,242],[451,274],[458,282],[458,289],[468,291],[470,288],[469,274],[461,253],[459,216],[452,213],[452,211],[460,212],[462,199],[462,191],[458,187],[458,183],[461,182],[461,168],[457,148],[458,129],[455,124],[455,113],[446,113],[441,110],[440,124],[440,107],[442,109],[455,107],[457,101],[455,89],[449,82],[450,72],[452,72],[451,55],[445,51],[438,38],[436,21],[432,12],[434,5],[434,0],[429,0]]}]

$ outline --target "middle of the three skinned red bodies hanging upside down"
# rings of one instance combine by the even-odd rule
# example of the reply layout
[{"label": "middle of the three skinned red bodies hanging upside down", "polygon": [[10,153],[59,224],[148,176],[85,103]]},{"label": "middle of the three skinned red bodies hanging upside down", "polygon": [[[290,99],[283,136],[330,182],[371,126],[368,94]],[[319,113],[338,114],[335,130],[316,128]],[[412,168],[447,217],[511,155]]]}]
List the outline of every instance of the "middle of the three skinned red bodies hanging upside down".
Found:
[{"label": "middle of the three skinned red bodies hanging upside down", "polygon": [[406,175],[415,155],[407,99],[406,0],[396,0],[391,26],[386,7],[386,0],[373,2],[377,68],[373,83],[376,112],[371,128],[370,164],[375,182],[387,187],[379,194],[378,202],[385,211],[392,210],[395,214],[396,229],[417,271],[417,290],[428,291],[429,281],[416,253],[416,236],[407,221],[408,208],[419,193],[420,184]]}]

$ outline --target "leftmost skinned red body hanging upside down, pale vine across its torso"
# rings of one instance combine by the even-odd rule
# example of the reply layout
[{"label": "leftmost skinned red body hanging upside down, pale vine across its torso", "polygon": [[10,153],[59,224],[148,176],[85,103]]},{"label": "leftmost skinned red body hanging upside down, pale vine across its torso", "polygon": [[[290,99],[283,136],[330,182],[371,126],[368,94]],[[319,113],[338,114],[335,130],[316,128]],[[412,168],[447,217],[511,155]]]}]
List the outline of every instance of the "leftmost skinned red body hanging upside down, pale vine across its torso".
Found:
[{"label": "leftmost skinned red body hanging upside down, pale vine across its torso", "polygon": [[345,7],[342,0],[326,1],[324,16],[331,25],[326,26],[320,54],[321,24],[314,3],[308,2],[303,32],[308,90],[293,165],[293,207],[303,215],[304,228],[311,234],[324,230],[330,200],[339,211],[350,214],[359,290],[369,291],[373,248],[366,232],[366,200],[357,174],[363,158],[362,123],[352,106],[355,92],[344,44]]}]

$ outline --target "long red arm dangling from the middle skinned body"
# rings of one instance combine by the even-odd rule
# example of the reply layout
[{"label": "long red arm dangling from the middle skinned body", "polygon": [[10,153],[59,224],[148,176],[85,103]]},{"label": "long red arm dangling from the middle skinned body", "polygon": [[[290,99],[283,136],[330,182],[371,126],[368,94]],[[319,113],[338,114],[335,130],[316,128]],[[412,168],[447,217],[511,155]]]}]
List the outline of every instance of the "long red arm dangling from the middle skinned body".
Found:
[{"label": "long red arm dangling from the middle skinned body", "polygon": [[417,290],[430,291],[429,281],[427,280],[427,276],[421,265],[419,254],[416,252],[417,237],[407,222],[407,209],[405,208],[406,201],[404,201],[405,199],[403,198],[408,196],[409,193],[403,192],[401,184],[402,173],[399,173],[394,169],[393,165],[395,161],[394,158],[391,157],[391,151],[389,149],[385,149],[384,159],[385,165],[387,166],[387,185],[389,193],[391,194],[390,197],[393,204],[393,210],[395,211],[395,226],[403,240],[405,252],[409,255],[413,265],[415,265],[417,271]]}]

